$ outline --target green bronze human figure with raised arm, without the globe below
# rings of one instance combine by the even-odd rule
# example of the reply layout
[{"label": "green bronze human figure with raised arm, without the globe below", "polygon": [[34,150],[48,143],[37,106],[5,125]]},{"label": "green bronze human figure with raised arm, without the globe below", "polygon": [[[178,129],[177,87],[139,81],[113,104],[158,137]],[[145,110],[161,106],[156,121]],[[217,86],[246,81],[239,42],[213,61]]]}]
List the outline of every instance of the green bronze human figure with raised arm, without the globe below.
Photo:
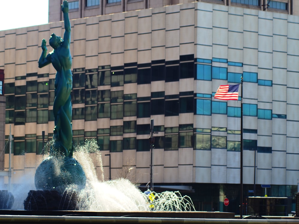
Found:
[{"label": "green bronze human figure with raised arm, without the globe below", "polygon": [[[52,63],[57,73],[55,76],[55,98],[53,104],[54,113],[54,136],[57,140],[53,152],[59,152],[65,156],[72,156],[72,108],[71,108],[71,90],[72,90],[72,58],[70,52],[71,42],[71,24],[68,18],[68,2],[63,1],[61,10],[64,17],[65,32],[63,39],[54,33],[50,36],[49,44],[53,51],[47,55],[46,40],[42,40],[42,55],[39,58],[38,66],[44,67]],[[50,151],[51,154],[51,151]]]}]

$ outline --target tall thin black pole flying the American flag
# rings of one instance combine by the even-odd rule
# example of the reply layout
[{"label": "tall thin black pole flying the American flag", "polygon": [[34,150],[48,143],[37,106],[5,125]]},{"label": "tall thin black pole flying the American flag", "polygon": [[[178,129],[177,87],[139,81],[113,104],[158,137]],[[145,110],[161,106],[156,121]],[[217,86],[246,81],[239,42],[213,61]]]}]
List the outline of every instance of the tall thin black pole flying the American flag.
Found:
[{"label": "tall thin black pole flying the American flag", "polygon": [[241,77],[240,219],[243,218],[243,77]]}]

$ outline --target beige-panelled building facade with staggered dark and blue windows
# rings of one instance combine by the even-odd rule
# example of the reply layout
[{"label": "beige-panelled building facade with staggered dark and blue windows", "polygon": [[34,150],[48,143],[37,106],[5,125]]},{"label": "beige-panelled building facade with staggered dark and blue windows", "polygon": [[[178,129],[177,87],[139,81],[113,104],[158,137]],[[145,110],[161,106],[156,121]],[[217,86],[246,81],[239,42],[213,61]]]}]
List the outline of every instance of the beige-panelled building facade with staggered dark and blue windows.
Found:
[{"label": "beige-panelled building facade with staggered dark and blue windows", "polygon": [[[106,180],[132,167],[127,178],[149,182],[154,119],[154,190],[180,189],[199,211],[223,211],[228,197],[238,213],[241,100],[213,95],[242,76],[244,197],[254,183],[257,196],[261,184],[268,196],[295,196],[299,16],[192,2],[74,19],[71,30],[73,143],[97,139]],[[63,22],[0,31],[13,185],[34,175],[42,131],[53,136],[56,71],[37,62],[42,39],[63,32]]]}]

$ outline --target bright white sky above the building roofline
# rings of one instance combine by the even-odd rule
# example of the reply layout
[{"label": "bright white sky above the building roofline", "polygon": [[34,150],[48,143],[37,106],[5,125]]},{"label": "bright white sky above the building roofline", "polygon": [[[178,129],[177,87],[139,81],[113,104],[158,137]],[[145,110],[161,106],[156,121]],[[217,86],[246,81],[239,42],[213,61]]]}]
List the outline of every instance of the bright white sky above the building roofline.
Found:
[{"label": "bright white sky above the building roofline", "polygon": [[46,24],[48,8],[49,0],[0,0],[0,30]]}]

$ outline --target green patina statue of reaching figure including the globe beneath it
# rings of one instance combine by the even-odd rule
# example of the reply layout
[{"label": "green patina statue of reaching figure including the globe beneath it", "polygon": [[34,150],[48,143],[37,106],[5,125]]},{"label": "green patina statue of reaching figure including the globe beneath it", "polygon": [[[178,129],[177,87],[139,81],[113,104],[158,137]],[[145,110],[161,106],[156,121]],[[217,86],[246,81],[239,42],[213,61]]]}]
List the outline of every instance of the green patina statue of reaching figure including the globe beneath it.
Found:
[{"label": "green patina statue of reaching figure including the globe beneath it", "polygon": [[50,146],[50,156],[42,161],[35,173],[37,190],[56,190],[61,194],[69,186],[82,189],[86,184],[86,176],[82,166],[73,158],[72,144],[72,58],[70,52],[71,24],[68,18],[68,2],[63,1],[61,10],[64,17],[65,32],[63,39],[51,35],[49,44],[53,51],[47,55],[45,39],[42,40],[42,55],[39,67],[52,63],[57,73],[55,76],[55,98],[53,104],[54,135]]}]

